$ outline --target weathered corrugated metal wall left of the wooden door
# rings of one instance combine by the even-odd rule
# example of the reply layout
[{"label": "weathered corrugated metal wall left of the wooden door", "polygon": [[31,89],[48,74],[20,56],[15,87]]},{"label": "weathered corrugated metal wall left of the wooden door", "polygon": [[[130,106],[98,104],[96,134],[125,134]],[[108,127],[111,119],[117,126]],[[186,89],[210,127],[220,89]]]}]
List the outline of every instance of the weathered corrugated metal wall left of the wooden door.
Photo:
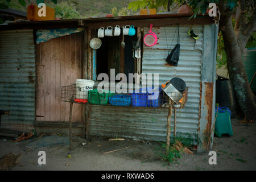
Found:
[{"label": "weathered corrugated metal wall left of the wooden door", "polygon": [[0,31],[1,127],[31,131],[35,121],[35,45],[33,30]]}]

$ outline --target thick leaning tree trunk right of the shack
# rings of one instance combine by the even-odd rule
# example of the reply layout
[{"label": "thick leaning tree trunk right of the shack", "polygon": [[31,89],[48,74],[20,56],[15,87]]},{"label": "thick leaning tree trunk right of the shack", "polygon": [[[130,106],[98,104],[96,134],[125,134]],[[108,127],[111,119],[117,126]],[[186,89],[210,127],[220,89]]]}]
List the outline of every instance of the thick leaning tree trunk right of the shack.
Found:
[{"label": "thick leaning tree trunk right of the shack", "polygon": [[[241,107],[246,119],[255,119],[256,117],[256,98],[251,91],[248,78],[245,73],[245,67],[242,62],[242,50],[238,46],[237,35],[232,25],[231,17],[220,24],[228,64],[229,77],[232,81],[237,102]],[[240,37],[242,39],[242,37]]]}]

